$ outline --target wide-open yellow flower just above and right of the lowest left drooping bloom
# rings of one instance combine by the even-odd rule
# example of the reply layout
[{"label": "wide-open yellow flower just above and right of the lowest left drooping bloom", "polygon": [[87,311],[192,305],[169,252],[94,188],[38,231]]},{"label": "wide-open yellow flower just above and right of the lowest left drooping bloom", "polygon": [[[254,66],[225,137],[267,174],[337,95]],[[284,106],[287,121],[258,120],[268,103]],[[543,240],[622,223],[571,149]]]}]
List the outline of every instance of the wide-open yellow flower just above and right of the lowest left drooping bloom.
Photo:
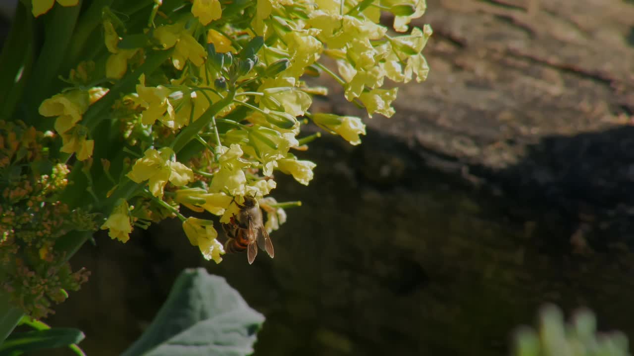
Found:
[{"label": "wide-open yellow flower just above and right of the lowest left drooping bloom", "polygon": [[127,177],[137,183],[149,181],[152,194],[157,198],[163,198],[167,181],[180,187],[194,179],[191,169],[183,163],[176,162],[172,158],[173,155],[174,151],[169,147],[161,148],[159,151],[150,148],[145,151],[143,158],[136,160]]}]

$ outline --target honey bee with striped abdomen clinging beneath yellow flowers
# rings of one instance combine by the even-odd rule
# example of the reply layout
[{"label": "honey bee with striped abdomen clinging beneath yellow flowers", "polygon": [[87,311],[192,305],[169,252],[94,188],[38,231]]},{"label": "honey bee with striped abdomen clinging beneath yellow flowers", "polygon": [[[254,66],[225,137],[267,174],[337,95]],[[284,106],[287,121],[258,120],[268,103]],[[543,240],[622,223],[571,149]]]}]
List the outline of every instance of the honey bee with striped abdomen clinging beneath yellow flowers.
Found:
[{"label": "honey bee with striped abdomen clinging beneath yellow flowers", "polygon": [[224,243],[224,250],[230,253],[247,250],[249,264],[256,260],[258,247],[273,258],[273,243],[264,227],[262,210],[260,210],[257,200],[250,196],[245,196],[243,205],[238,203],[236,205],[240,208],[238,214],[231,217],[229,224],[223,224],[224,232],[229,238]]}]

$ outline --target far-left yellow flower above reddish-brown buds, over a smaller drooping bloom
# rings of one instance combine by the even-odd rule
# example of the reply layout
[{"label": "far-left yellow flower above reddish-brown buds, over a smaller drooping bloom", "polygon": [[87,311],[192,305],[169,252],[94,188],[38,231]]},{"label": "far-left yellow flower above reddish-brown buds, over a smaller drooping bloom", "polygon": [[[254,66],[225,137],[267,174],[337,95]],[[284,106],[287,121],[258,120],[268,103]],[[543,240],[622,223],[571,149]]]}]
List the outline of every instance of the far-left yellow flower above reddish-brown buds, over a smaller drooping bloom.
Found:
[{"label": "far-left yellow flower above reddish-brown buds, over a smaller drooping bloom", "polygon": [[59,116],[55,123],[55,130],[59,134],[67,132],[82,118],[90,105],[89,94],[86,91],[74,89],[55,94],[53,97],[42,101],[39,113],[42,116]]}]

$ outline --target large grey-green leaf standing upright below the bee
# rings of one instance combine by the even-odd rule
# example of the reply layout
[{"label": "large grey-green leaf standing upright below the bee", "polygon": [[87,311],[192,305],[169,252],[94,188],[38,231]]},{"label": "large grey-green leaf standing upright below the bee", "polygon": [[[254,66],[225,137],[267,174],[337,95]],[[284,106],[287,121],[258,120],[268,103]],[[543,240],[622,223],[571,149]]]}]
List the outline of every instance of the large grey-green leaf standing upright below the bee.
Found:
[{"label": "large grey-green leaf standing upright below the bee", "polygon": [[150,327],[122,356],[249,355],[264,316],[223,277],[187,269]]}]

